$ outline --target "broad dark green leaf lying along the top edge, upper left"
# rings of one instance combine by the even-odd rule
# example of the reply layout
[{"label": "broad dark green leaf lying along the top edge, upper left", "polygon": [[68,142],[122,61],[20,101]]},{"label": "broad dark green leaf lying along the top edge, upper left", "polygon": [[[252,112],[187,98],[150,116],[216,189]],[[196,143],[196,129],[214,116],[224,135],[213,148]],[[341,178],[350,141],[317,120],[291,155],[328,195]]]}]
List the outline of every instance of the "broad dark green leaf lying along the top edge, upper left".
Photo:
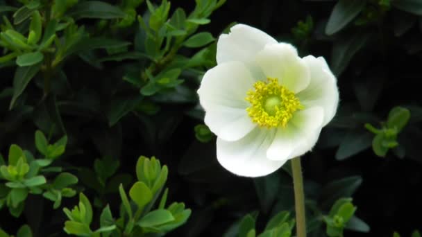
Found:
[{"label": "broad dark green leaf lying along the top edge, upper left", "polygon": [[103,1],[81,1],[68,10],[67,15],[74,19],[115,19],[125,17],[126,13],[117,6],[112,6]]}]

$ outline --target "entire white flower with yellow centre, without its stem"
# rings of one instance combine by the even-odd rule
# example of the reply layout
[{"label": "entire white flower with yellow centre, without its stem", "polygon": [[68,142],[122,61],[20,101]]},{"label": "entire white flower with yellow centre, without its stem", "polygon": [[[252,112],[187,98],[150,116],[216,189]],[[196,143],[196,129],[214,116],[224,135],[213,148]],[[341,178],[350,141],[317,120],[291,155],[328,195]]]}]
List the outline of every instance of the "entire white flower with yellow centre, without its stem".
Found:
[{"label": "entire white flower with yellow centre, without its stem", "polygon": [[217,43],[217,66],[198,90],[221,166],[241,176],[278,170],[312,149],[335,115],[337,79],[326,61],[237,24]]}]

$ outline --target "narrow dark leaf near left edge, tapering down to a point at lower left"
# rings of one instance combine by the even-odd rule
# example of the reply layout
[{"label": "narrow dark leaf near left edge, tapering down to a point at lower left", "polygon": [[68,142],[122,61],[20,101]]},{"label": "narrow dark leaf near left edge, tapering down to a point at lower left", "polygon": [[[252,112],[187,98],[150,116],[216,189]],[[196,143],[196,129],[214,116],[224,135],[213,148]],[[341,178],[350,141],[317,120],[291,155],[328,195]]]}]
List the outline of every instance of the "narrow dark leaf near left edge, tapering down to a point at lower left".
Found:
[{"label": "narrow dark leaf near left edge, tapering down to a point at lower left", "polygon": [[24,92],[24,89],[31,79],[40,71],[41,64],[34,64],[28,67],[17,67],[13,78],[13,97],[9,109],[15,105],[17,98]]}]

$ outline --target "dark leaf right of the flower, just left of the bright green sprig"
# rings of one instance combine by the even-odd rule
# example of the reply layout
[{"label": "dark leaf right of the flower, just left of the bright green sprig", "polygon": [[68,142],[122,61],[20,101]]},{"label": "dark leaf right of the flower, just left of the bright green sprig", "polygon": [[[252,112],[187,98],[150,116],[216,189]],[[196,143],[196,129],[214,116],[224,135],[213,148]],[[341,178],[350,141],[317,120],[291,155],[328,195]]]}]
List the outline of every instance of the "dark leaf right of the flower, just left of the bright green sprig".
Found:
[{"label": "dark leaf right of the flower, just left of the bright green sprig", "polygon": [[372,134],[364,130],[351,130],[341,141],[335,159],[344,160],[371,146]]}]

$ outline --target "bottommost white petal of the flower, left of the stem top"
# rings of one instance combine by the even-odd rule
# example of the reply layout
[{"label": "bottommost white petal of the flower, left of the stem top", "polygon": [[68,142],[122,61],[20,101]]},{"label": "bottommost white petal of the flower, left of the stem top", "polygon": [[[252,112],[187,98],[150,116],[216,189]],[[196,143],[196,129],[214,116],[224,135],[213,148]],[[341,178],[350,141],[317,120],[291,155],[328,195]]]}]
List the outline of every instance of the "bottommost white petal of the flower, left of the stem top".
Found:
[{"label": "bottommost white petal of the flower, left of the stem top", "polygon": [[239,141],[228,142],[217,138],[217,159],[231,173],[246,177],[269,175],[285,161],[267,159],[267,149],[275,130],[255,128]]}]

